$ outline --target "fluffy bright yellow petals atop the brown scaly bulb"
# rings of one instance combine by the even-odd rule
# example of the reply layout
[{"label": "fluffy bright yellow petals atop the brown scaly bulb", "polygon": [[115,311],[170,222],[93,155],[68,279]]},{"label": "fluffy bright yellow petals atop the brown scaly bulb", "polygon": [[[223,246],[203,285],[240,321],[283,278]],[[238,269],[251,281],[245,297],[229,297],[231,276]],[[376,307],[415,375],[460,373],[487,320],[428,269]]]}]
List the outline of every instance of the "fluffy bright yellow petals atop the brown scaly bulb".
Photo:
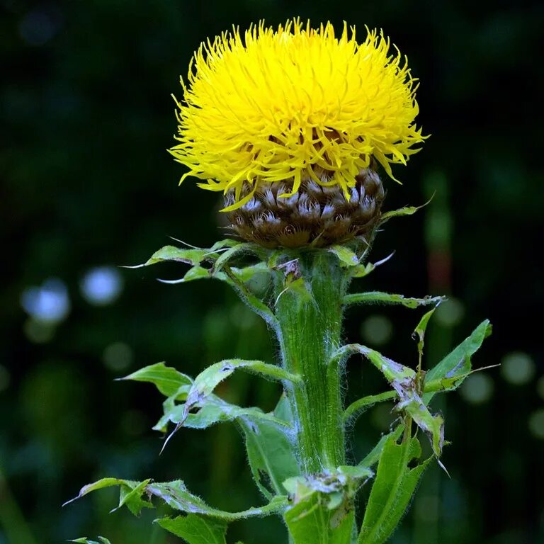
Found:
[{"label": "fluffy bright yellow petals atop the brown scaly bulb", "polygon": [[[202,188],[232,191],[225,210],[263,182],[283,182],[288,197],[313,179],[349,198],[372,157],[392,177],[390,164],[406,164],[423,142],[414,81],[376,30],[358,44],[345,23],[338,38],[331,23],[315,30],[299,19],[278,30],[260,23],[244,38],[233,28],[200,45],[181,81],[171,149],[189,169],[181,181],[196,176]],[[251,191],[242,195],[244,185]]]}]

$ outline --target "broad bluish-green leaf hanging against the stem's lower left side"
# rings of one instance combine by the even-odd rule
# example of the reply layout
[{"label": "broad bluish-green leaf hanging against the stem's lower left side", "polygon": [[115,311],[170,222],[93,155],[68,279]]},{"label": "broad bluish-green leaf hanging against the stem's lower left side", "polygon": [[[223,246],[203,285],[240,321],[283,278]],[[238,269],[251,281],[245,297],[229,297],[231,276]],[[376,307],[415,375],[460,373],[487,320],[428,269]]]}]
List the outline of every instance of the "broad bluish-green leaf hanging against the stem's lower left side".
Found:
[{"label": "broad bluish-green leaf hanging against the stem's lower left side", "polygon": [[282,482],[298,474],[293,437],[268,421],[239,419],[238,422],[244,432],[247,458],[257,487],[267,499],[282,494]]}]

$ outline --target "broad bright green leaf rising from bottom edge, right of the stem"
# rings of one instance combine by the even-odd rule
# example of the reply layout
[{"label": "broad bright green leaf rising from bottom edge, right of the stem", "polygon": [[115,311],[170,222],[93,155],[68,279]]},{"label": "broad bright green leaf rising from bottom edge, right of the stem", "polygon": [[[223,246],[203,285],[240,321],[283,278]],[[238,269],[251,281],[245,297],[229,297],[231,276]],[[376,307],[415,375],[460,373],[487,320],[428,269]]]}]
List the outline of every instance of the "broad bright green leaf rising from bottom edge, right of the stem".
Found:
[{"label": "broad bright green leaf rising from bottom edge, right of the stem", "polygon": [[390,435],[383,446],[376,479],[370,491],[358,544],[382,544],[387,541],[404,516],[429,459],[409,468],[419,458],[421,447],[417,438],[397,444]]}]

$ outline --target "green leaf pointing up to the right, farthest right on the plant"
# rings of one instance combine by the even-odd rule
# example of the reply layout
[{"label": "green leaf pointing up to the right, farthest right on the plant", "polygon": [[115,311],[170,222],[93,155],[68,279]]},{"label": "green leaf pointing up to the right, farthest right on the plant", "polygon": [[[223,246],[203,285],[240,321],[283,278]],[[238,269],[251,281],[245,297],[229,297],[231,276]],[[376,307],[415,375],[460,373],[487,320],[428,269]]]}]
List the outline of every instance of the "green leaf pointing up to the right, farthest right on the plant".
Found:
[{"label": "green leaf pointing up to the right, farthest right on the plant", "polygon": [[426,373],[426,392],[423,395],[425,404],[431,402],[436,392],[455,390],[463,383],[472,368],[470,358],[480,349],[483,341],[491,333],[492,326],[489,320],[485,319],[470,336]]}]

